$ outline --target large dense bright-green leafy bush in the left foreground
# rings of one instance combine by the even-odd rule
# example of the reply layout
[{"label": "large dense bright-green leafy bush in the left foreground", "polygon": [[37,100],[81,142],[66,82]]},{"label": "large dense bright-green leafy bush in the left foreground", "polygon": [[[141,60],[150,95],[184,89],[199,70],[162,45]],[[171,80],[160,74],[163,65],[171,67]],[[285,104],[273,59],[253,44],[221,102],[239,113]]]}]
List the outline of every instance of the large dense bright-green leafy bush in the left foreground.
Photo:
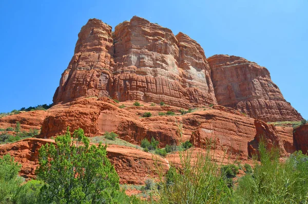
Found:
[{"label": "large dense bright-green leafy bush in the left foreground", "polygon": [[41,197],[45,203],[112,203],[117,198],[119,176],[107,158],[107,146],[89,144],[83,129],[73,139],[69,128],[55,144],[39,151],[37,178],[45,182]]}]

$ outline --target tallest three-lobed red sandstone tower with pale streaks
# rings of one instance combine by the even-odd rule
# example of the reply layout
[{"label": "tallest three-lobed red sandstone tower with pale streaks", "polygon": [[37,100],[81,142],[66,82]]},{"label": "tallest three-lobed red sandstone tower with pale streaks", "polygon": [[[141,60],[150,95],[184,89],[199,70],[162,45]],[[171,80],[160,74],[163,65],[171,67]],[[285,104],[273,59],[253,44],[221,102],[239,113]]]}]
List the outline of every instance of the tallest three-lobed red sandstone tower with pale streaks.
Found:
[{"label": "tallest three-lobed red sandstone tower with pale streaks", "polygon": [[216,104],[201,46],[187,35],[134,16],[115,27],[91,19],[81,29],[54,103],[81,96],[170,105]]}]

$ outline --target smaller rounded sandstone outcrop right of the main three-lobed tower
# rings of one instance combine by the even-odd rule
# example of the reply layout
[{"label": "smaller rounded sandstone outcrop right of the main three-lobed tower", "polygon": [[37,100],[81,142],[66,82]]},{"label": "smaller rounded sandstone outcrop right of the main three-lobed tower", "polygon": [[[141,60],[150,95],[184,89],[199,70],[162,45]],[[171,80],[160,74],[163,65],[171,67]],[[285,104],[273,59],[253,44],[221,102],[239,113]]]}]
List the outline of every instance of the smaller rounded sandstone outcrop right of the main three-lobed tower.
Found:
[{"label": "smaller rounded sandstone outcrop right of the main three-lobed tower", "polygon": [[302,119],[284,100],[265,67],[223,54],[214,55],[207,61],[219,105],[235,108],[266,122]]}]

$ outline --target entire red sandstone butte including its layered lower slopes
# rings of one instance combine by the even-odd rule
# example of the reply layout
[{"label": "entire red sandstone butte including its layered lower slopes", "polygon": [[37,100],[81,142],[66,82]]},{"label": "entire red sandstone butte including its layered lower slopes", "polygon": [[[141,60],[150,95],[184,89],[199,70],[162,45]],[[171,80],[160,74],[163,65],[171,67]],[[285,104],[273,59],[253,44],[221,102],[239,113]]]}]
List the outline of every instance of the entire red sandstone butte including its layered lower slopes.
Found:
[{"label": "entire red sandstone butte including its layered lower slopes", "polygon": [[[88,137],[113,131],[136,145],[151,137],[160,147],[189,140],[194,155],[211,141],[215,159],[224,163],[251,163],[261,137],[268,149],[277,146],[282,157],[297,150],[307,152],[307,125],[293,130],[267,123],[302,117],[284,100],[265,67],[229,55],[206,58],[189,36],[174,35],[137,16],[113,32],[102,21],[90,19],[78,36],[54,105],[46,111],[0,118],[0,128],[15,127],[16,121],[26,131],[41,128],[36,138],[0,145],[0,155],[10,153],[22,163],[22,176],[35,176],[38,149],[54,142],[51,138],[63,134],[67,126],[71,131],[83,128]],[[134,101],[142,106],[133,106]],[[167,105],[160,106],[161,101]],[[180,115],[180,108],[194,110]],[[167,111],[176,115],[159,115]],[[143,118],[145,112],[152,116]],[[151,154],[120,145],[109,145],[107,151],[121,183],[142,184],[156,176],[156,158]],[[177,153],[158,160],[164,169],[169,163],[179,164]]]}]

